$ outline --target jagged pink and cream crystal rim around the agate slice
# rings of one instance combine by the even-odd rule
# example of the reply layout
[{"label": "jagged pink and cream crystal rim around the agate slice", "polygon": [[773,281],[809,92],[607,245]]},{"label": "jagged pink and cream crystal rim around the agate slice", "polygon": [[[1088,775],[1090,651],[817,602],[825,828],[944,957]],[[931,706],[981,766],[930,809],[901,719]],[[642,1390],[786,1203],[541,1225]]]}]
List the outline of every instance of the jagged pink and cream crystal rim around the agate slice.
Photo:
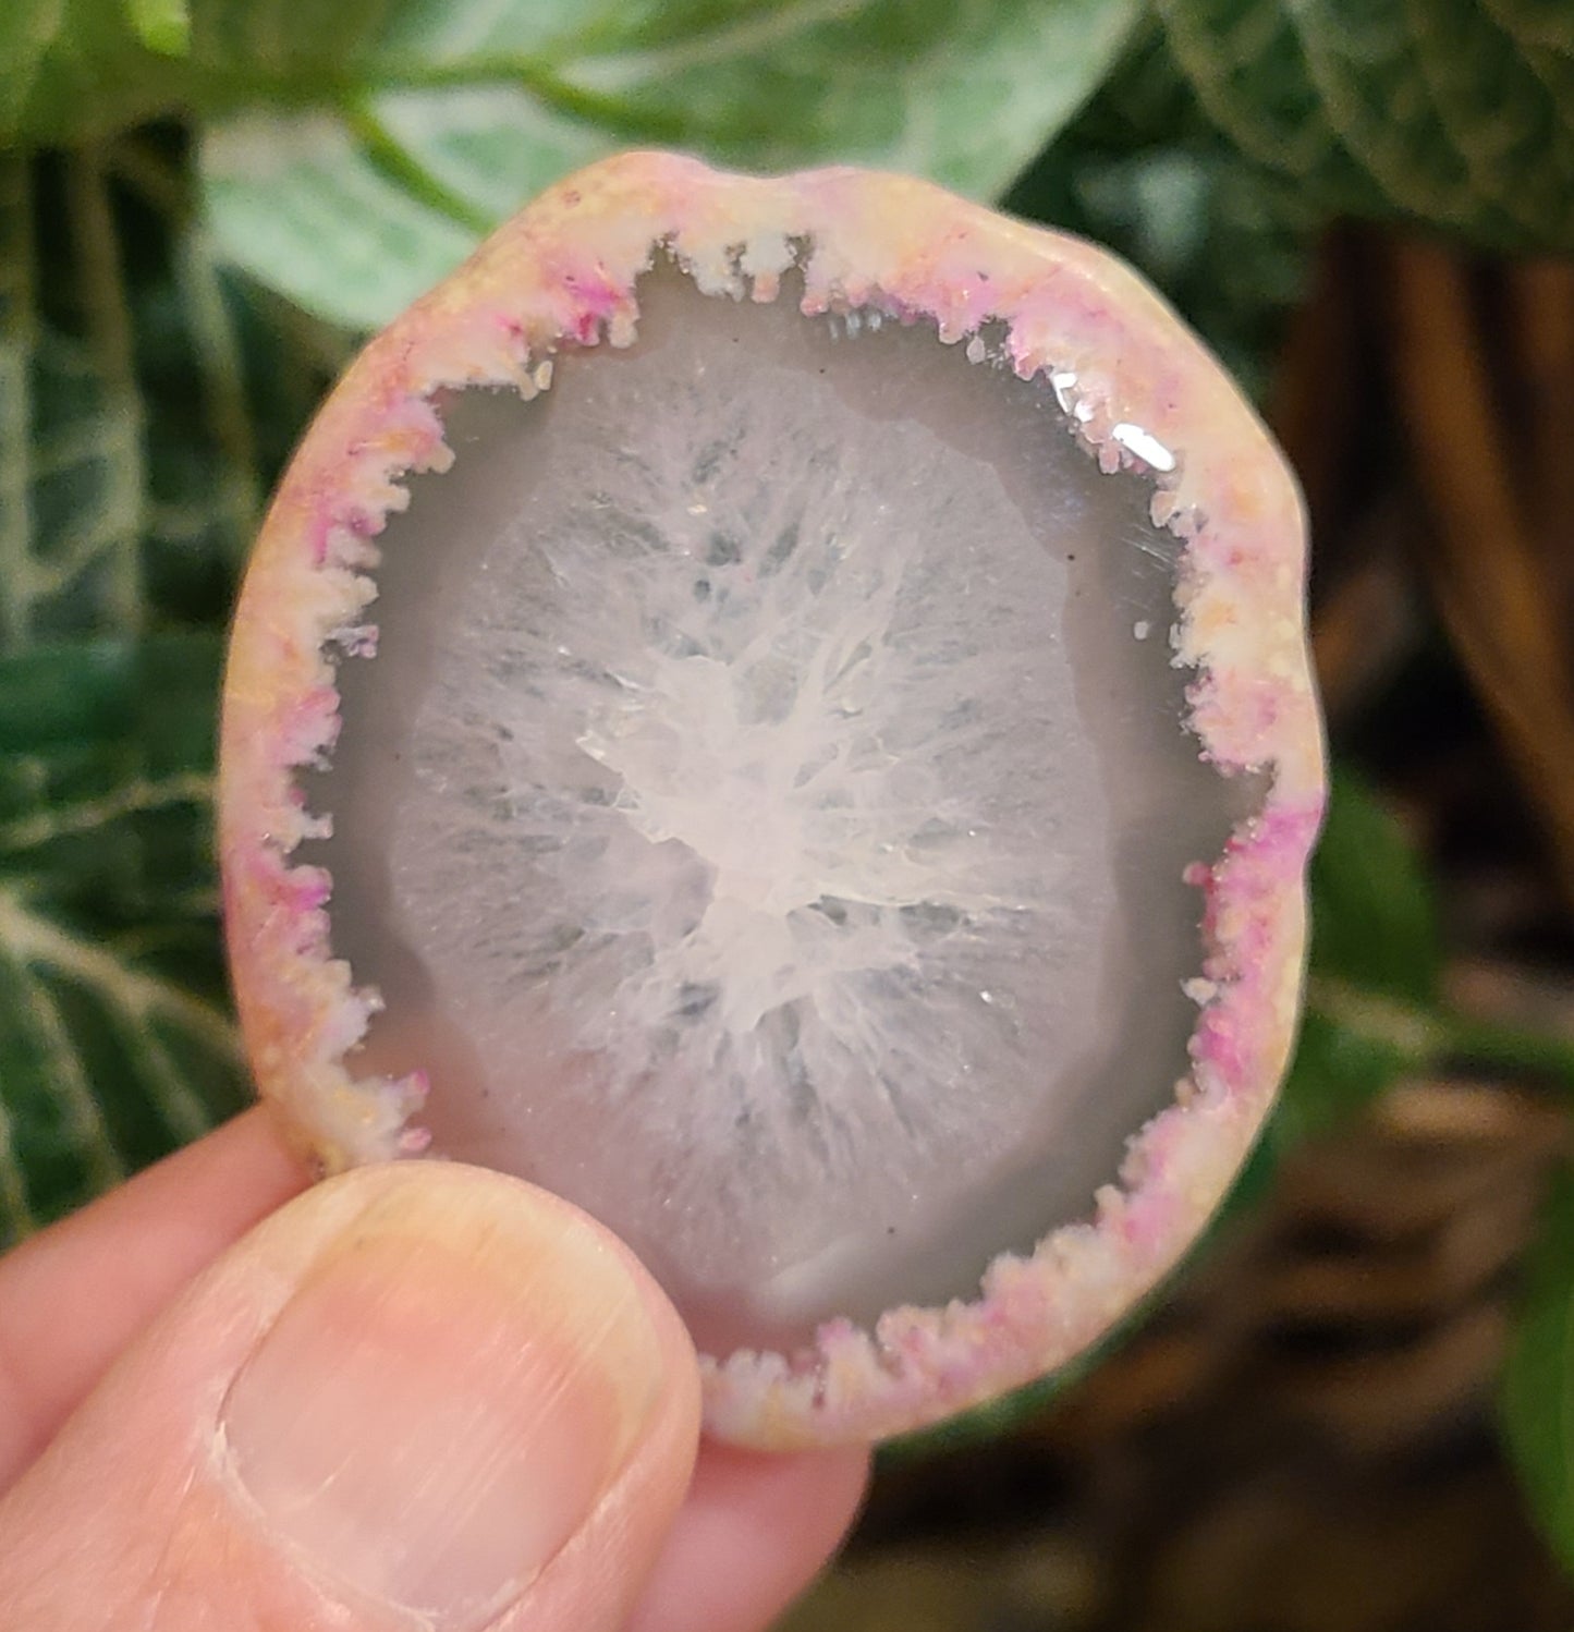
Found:
[{"label": "jagged pink and cream crystal rim around the agate slice", "polygon": [[827,1322],[791,1356],[701,1361],[721,1438],[878,1439],[1096,1342],[1178,1262],[1269,1110],[1298,1013],[1303,875],[1324,801],[1303,514],[1220,366],[1093,245],[856,170],[757,180],[630,153],[555,186],[349,369],[284,478],[240,599],[220,772],[230,960],[259,1089],[325,1170],[418,1152],[427,1092],[419,1075],[357,1080],[346,1067],[377,997],[333,956],[328,875],[290,860],[326,831],[298,772],[325,764],[338,733],[331,653],[375,640],[375,537],[408,503],[401,481],[452,462],[442,393],[507,384],[532,397],[564,341],[630,344],[636,279],[661,248],[708,294],[773,300],[796,266],[811,313],[878,308],[969,344],[1000,325],[1016,372],[1049,382],[1103,468],[1153,475],[1153,519],[1184,540],[1176,641],[1197,674],[1191,725],[1222,770],[1267,774],[1261,813],[1192,871],[1205,956],[1189,986],[1191,1071],[1090,1219],[998,1257],[974,1301],[894,1309],[873,1330]]}]

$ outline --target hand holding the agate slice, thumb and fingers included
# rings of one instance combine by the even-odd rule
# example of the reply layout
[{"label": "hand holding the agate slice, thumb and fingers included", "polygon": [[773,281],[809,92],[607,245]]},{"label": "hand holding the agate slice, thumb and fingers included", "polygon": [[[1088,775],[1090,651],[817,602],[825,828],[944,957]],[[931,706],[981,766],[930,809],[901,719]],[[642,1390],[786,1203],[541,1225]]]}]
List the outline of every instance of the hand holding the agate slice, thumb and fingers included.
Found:
[{"label": "hand holding the agate slice, thumb and fingers included", "polygon": [[754,1632],[864,1472],[700,1446],[682,1324],[564,1203],[307,1188],[261,1110],[0,1260],[16,1632]]}]

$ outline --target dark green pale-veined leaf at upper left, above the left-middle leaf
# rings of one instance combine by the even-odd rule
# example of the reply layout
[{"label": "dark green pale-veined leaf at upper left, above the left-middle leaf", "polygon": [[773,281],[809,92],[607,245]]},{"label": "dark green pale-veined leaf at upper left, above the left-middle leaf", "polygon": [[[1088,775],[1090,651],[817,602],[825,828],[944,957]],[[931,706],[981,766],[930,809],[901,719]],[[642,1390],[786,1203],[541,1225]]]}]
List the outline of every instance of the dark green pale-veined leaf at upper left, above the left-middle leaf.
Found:
[{"label": "dark green pale-veined leaf at upper left, above the left-middle leaf", "polygon": [[0,153],[0,653],[223,619],[328,377],[220,268],[171,145]]}]

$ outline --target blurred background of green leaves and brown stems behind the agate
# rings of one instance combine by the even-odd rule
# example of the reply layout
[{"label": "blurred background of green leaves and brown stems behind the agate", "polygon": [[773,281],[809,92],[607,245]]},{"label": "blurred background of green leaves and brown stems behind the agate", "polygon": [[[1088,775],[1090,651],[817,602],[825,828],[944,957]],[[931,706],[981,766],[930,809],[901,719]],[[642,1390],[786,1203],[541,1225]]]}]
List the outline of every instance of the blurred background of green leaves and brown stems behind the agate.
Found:
[{"label": "blurred background of green leaves and brown stems behind the agate", "polygon": [[1156,1315],[892,1448],[794,1625],[1566,1629],[1567,0],[7,0],[0,1244],[245,1102],[212,728],[292,441],[630,145],[1109,243],[1315,522],[1337,780],[1269,1134]]}]

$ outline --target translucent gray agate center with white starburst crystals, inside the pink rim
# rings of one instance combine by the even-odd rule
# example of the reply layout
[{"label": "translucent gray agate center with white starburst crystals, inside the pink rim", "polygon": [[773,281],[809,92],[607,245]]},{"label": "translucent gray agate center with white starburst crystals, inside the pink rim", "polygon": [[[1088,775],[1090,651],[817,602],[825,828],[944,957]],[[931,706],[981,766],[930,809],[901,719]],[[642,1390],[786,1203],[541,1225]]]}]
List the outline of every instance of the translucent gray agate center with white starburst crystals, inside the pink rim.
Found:
[{"label": "translucent gray agate center with white starburst crystals, inside the pink rim", "polygon": [[711,1351],[975,1293],[1173,1093],[1249,788],[1184,731],[1176,540],[1042,382],[646,279],[470,392],[385,535],[313,805],[437,1151],[617,1229]]}]

